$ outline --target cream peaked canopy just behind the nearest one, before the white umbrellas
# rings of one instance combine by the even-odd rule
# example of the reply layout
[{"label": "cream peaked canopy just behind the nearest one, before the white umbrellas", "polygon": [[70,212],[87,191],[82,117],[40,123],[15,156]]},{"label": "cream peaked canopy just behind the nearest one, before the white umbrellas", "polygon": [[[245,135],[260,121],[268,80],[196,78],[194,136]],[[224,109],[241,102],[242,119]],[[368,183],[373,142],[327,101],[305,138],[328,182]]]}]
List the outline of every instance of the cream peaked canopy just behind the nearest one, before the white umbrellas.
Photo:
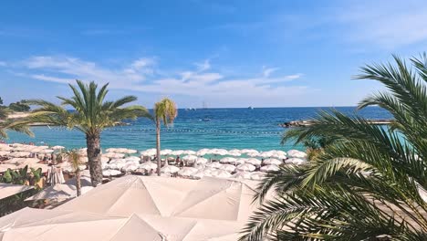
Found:
[{"label": "cream peaked canopy just behind the nearest one, before the white umbrellas", "polygon": [[254,188],[255,183],[251,181],[127,175],[56,209],[108,216],[136,213],[245,221],[257,205],[252,204]]}]

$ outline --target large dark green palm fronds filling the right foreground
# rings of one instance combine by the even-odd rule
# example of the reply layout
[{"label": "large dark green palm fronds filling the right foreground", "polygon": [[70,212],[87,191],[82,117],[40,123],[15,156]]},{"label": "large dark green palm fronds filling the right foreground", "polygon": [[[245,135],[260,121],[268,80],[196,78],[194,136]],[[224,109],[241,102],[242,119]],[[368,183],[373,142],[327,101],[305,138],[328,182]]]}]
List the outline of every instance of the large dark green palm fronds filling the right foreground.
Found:
[{"label": "large dark green palm fronds filling the right foreground", "polygon": [[[388,91],[362,100],[394,117],[370,125],[337,110],[286,134],[284,141],[334,140],[307,166],[284,166],[258,186],[241,240],[427,240],[427,57],[361,68]],[[265,200],[274,190],[276,198]]]}]

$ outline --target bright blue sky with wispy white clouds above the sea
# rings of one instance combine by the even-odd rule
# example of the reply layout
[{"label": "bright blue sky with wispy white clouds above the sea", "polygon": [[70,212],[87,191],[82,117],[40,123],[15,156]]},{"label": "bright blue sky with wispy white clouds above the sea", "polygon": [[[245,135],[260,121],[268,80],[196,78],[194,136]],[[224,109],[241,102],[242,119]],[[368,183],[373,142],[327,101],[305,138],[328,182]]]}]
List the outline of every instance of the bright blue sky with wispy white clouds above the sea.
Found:
[{"label": "bright blue sky with wispy white clouds above the sea", "polygon": [[427,47],[424,1],[1,1],[0,97],[109,82],[151,107],[354,105],[366,63]]}]

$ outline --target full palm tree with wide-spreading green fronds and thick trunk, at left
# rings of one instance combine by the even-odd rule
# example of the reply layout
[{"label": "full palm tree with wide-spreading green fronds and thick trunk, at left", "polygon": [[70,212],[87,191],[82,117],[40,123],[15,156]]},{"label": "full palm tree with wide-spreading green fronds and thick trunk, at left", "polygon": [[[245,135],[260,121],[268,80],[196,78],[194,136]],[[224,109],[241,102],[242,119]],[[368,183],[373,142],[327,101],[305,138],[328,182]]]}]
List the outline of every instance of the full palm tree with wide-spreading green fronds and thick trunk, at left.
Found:
[{"label": "full palm tree with wide-spreading green fronds and thick trunk, at left", "polygon": [[[71,98],[58,97],[61,105],[46,100],[28,100],[31,105],[40,106],[33,110],[28,122],[43,122],[52,125],[67,126],[82,131],[86,135],[88,147],[89,171],[92,185],[102,183],[102,168],[100,162],[101,132],[117,125],[126,119],[149,116],[148,110],[142,106],[123,107],[137,100],[134,96],[126,96],[115,101],[104,100],[109,90],[109,84],[98,89],[95,82],[85,84],[77,80],[77,86],[69,84],[74,96]],[[66,106],[74,110],[68,111]]]}]

